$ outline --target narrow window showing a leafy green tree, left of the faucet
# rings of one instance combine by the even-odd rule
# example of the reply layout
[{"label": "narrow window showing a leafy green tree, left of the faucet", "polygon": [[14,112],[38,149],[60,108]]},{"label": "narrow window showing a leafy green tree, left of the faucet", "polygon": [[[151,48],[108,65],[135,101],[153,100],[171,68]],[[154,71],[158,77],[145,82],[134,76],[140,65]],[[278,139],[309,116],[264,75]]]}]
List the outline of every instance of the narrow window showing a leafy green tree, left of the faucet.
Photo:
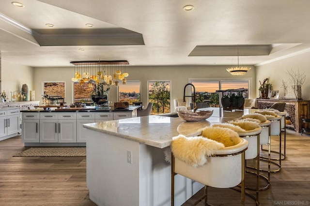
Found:
[{"label": "narrow window showing a leafy green tree, left of the faucet", "polygon": [[170,113],[170,81],[149,81],[148,90],[151,114]]}]

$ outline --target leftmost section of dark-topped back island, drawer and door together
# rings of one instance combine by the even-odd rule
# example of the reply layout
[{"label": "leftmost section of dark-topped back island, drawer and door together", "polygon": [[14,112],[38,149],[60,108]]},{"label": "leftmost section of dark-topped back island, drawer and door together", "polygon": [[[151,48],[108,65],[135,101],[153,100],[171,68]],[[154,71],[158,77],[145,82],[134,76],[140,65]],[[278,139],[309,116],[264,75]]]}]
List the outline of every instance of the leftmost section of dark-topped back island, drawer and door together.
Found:
[{"label": "leftmost section of dark-topped back island, drawer and door together", "polygon": [[21,137],[24,142],[40,142],[40,114],[22,113]]}]

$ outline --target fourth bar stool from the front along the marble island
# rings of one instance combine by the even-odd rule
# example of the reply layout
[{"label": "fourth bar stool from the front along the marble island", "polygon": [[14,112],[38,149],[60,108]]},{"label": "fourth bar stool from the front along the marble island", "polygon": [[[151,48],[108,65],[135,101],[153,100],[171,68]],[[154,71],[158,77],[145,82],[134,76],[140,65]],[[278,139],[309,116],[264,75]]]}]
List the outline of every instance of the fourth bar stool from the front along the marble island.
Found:
[{"label": "fourth bar stool from the front along the marble island", "polygon": [[[267,118],[267,120],[271,121],[270,136],[279,136],[279,152],[272,151],[272,150],[270,151],[270,152],[279,153],[279,158],[270,158],[270,160],[274,160],[274,161],[270,161],[270,163],[275,164],[279,168],[276,170],[270,170],[270,172],[274,172],[274,173],[279,172],[281,171],[281,147],[282,147],[281,146],[281,142],[282,142],[282,132],[281,132],[281,128],[282,128],[281,121],[282,120],[281,119],[282,117],[272,111],[256,111],[255,113],[263,114]],[[268,161],[270,152],[268,151],[268,158],[261,156],[261,159],[264,161]],[[279,161],[279,163],[275,161]]]}]

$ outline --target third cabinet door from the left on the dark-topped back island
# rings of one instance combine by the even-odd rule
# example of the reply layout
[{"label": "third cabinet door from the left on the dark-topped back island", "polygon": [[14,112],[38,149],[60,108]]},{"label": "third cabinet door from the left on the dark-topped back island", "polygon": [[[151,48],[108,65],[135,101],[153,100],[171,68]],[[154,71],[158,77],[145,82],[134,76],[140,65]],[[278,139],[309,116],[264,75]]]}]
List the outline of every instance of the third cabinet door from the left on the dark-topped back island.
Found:
[{"label": "third cabinet door from the left on the dark-topped back island", "polygon": [[77,142],[77,120],[72,119],[58,120],[58,142],[59,143]]}]

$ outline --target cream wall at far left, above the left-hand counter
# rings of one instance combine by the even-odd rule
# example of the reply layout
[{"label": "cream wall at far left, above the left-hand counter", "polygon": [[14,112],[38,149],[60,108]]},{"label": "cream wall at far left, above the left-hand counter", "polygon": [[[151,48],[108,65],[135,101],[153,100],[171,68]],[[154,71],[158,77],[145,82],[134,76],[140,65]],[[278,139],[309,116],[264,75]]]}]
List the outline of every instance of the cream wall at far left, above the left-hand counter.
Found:
[{"label": "cream wall at far left, above the left-hand counter", "polygon": [[27,84],[29,90],[35,90],[33,67],[8,62],[3,60],[3,58],[1,59],[1,80],[2,91],[4,90],[9,97],[7,101],[11,101],[10,92],[21,90],[23,84]]}]

